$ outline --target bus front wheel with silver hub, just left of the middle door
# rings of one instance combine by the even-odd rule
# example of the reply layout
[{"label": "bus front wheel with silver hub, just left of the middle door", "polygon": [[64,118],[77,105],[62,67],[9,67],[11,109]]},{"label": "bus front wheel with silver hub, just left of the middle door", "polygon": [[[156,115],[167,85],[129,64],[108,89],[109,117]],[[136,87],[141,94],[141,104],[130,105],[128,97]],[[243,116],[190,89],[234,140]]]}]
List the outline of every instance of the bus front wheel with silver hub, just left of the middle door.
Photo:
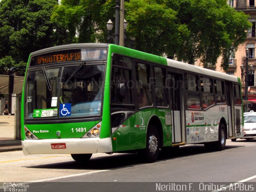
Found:
[{"label": "bus front wheel with silver hub, just left of the middle door", "polygon": [[[158,159],[160,146],[159,146],[159,133],[155,126],[148,126],[146,135],[146,149],[138,152],[138,155],[146,163],[153,163]],[[151,145],[150,145],[151,143]]]}]

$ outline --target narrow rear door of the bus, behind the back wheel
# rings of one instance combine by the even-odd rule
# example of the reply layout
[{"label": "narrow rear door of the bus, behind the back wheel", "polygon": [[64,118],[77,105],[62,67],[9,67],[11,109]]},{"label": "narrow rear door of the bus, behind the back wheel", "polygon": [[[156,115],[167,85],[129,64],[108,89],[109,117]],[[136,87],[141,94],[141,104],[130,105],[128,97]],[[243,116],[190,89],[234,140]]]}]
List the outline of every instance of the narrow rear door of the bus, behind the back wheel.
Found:
[{"label": "narrow rear door of the bus, behind the back wheel", "polygon": [[226,82],[226,96],[227,96],[227,104],[228,104],[228,136],[234,137],[236,134],[234,133],[233,127],[234,121],[234,102],[233,102],[233,91],[232,91],[232,82]]}]

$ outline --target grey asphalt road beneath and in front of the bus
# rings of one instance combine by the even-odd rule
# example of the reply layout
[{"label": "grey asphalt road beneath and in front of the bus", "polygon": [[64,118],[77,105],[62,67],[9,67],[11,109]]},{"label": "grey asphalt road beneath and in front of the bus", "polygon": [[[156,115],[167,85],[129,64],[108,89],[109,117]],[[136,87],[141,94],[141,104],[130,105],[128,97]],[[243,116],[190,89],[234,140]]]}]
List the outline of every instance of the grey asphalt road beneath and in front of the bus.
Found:
[{"label": "grey asphalt road beneath and in front of the bus", "polygon": [[[220,191],[215,190],[214,186],[207,188],[210,190],[200,190],[198,187],[200,182],[212,185],[226,182],[223,186],[236,182],[256,182],[255,147],[256,140],[227,140],[226,149],[218,152],[207,151],[203,145],[187,145],[178,151],[162,151],[159,160],[152,164],[142,163],[136,154],[94,154],[87,163],[78,163],[70,155],[24,156],[21,151],[2,152],[0,182],[28,183],[30,188],[26,192],[45,192],[53,188],[62,192],[74,188],[75,191],[140,189],[148,192],[157,189],[166,191],[168,187],[172,189],[168,191],[188,191],[190,183],[195,185],[191,187],[194,191]],[[167,188],[156,187],[156,183],[164,182]],[[182,185],[183,182],[186,190],[175,188],[175,183]],[[174,186],[170,183],[174,183]],[[254,185],[253,190],[256,191]],[[0,190],[3,190],[1,186]],[[249,191],[252,187],[248,186]],[[240,188],[238,191],[243,191],[241,189],[246,190]]]}]

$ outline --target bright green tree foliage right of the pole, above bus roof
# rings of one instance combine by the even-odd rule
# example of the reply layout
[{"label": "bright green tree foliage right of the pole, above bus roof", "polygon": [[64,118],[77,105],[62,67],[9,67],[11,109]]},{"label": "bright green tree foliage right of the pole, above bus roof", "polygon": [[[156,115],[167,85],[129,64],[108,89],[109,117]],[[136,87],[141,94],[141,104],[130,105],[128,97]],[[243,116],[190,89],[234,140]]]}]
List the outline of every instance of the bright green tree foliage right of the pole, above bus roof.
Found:
[{"label": "bright green tree foliage right of the pole, above bus roof", "polygon": [[222,56],[224,70],[250,27],[248,16],[226,0],[130,0],[126,8],[128,30],[140,43],[136,48],[190,64],[200,58],[205,66]]}]

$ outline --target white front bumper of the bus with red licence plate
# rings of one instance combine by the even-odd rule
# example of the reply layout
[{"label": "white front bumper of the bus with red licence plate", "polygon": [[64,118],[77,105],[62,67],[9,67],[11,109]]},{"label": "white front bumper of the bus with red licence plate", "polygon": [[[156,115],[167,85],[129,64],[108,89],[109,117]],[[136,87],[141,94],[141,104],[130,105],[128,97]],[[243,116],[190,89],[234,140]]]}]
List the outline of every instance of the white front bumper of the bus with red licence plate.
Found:
[{"label": "white front bumper of the bus with red licence plate", "polygon": [[111,138],[26,139],[23,154],[90,154],[112,152]]}]

